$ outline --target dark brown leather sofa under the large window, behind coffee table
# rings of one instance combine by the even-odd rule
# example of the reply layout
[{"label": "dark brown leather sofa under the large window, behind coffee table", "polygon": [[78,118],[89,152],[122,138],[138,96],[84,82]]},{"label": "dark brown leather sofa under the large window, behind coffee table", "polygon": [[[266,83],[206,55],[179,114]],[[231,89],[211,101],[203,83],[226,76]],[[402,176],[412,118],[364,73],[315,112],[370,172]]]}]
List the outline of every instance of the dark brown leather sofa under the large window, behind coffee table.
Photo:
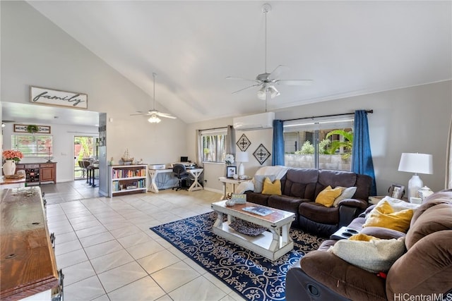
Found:
[{"label": "dark brown leather sofa under the large window, behind coffee table", "polygon": [[[344,199],[338,207],[325,207],[314,201],[324,188],[331,185],[357,187],[352,199]],[[316,235],[328,237],[341,226],[346,226],[369,207],[371,178],[350,171],[289,168],[281,178],[282,195],[263,195],[246,192],[246,200],[263,206],[295,213],[293,226]]]}]

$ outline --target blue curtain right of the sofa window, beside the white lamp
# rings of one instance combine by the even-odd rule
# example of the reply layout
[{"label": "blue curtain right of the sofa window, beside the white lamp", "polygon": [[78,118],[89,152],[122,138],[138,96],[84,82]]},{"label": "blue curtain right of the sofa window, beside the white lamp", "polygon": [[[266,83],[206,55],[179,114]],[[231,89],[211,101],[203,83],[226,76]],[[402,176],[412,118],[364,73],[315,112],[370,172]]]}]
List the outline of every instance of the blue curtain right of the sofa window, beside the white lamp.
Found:
[{"label": "blue curtain right of the sofa window, beside the white lamp", "polygon": [[355,111],[355,129],[353,131],[352,171],[372,178],[370,195],[376,195],[374,162],[369,140],[369,125],[367,113],[364,110]]}]

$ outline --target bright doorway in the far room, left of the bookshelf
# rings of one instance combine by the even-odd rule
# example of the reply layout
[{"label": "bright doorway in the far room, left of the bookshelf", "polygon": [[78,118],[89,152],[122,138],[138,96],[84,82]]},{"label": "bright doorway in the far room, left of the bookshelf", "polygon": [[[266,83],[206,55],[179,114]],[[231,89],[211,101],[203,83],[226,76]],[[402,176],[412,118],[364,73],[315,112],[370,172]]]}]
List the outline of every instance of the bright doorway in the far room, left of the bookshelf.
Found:
[{"label": "bright doorway in the far room, left of the bookshelf", "polygon": [[83,168],[83,161],[97,159],[96,137],[74,136],[73,137],[73,178],[81,180],[86,178],[86,169]]}]

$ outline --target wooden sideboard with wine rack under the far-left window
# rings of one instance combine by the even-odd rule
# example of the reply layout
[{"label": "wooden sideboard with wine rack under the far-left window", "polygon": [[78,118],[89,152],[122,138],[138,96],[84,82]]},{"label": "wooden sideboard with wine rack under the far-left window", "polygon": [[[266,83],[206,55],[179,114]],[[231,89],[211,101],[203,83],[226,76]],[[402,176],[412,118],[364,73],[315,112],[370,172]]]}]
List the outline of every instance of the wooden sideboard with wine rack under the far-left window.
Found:
[{"label": "wooden sideboard with wine rack under the far-left window", "polygon": [[53,182],[57,183],[57,163],[24,163],[16,164],[16,171],[25,171],[26,183]]}]

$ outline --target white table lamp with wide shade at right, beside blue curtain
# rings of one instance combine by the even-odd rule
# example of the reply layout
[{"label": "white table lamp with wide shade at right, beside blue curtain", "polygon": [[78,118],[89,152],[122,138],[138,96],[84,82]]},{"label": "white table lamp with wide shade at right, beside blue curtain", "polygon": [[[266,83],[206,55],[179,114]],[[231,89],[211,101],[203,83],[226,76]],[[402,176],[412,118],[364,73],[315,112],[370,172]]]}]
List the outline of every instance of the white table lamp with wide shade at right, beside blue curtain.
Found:
[{"label": "white table lamp with wide shade at right, beside blue curtain", "polygon": [[433,173],[433,156],[431,154],[403,153],[398,164],[399,171],[415,173],[408,182],[408,199],[417,197],[417,191],[424,186],[417,173]]}]

